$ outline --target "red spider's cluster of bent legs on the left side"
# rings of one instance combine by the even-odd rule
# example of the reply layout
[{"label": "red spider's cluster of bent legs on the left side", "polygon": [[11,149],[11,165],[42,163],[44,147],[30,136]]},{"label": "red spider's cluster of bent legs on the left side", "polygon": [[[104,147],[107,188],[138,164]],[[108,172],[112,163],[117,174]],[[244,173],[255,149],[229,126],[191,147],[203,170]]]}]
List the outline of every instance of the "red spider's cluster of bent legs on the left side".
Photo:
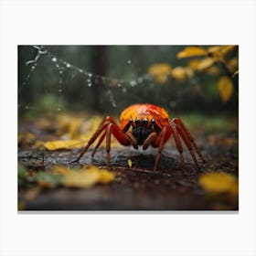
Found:
[{"label": "red spider's cluster of bent legs on the left side", "polygon": [[117,123],[115,123],[115,121],[112,117],[107,116],[106,118],[104,118],[102,120],[97,131],[92,134],[91,139],[89,140],[88,144],[83,148],[83,150],[80,152],[80,155],[78,156],[78,158],[76,160],[74,160],[72,163],[78,162],[80,160],[80,158],[82,157],[82,155],[84,155],[87,152],[87,150],[89,149],[91,144],[93,144],[95,142],[95,140],[101,135],[101,137],[100,137],[98,143],[96,144],[91,155],[93,156],[96,153],[96,151],[99,148],[99,146],[101,145],[102,141],[104,140],[104,138],[106,138],[107,165],[108,165],[108,167],[111,167],[110,152],[111,152],[111,136],[112,136],[112,134],[114,135],[114,137],[117,139],[117,141],[120,144],[130,145],[130,140],[128,140],[125,133],[123,133],[123,130],[121,130],[121,128],[117,125]]}]

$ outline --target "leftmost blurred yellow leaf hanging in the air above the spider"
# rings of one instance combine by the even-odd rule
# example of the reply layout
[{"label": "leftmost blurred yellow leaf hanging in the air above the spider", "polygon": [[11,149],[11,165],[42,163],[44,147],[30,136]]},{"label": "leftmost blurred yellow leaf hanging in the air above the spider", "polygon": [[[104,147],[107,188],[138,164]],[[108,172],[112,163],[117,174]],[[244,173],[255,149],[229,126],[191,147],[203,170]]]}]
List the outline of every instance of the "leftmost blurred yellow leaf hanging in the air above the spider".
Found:
[{"label": "leftmost blurred yellow leaf hanging in the air above the spider", "polygon": [[155,63],[148,68],[148,73],[154,77],[156,82],[164,84],[170,76],[172,67],[168,63]]}]

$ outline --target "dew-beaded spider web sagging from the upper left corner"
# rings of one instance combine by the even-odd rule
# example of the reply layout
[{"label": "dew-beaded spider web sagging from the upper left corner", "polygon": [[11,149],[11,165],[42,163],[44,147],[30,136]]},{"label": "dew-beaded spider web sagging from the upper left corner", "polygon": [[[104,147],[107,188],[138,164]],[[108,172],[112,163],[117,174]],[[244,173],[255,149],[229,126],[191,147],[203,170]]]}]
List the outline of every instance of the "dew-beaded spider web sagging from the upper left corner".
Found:
[{"label": "dew-beaded spider web sagging from the upper left corner", "polygon": [[[87,69],[81,69],[80,67],[74,65],[73,63],[69,62],[66,59],[61,59],[57,55],[51,53],[47,48],[44,46],[31,46],[31,48],[36,49],[36,55],[34,59],[28,59],[24,65],[27,66],[28,72],[25,78],[22,80],[22,82],[19,84],[18,87],[18,95],[21,96],[22,93],[25,91],[27,87],[34,86],[31,82],[31,78],[33,77],[34,73],[37,72],[37,67],[40,65],[41,59],[48,59],[48,63],[52,66],[52,75],[54,75],[54,72],[59,72],[59,81],[58,84],[58,103],[53,106],[52,111],[62,111],[62,93],[66,90],[66,87],[68,86],[67,82],[65,82],[65,79],[63,77],[64,73],[67,73],[68,76],[71,78],[71,80],[74,77],[80,76],[82,77],[83,83],[81,86],[86,86],[87,88],[92,88],[93,86],[100,85],[102,89],[104,89],[105,93],[101,95],[101,103],[103,101],[108,101],[112,108],[116,108],[119,104],[116,98],[114,97],[113,91],[119,91],[121,94],[123,94],[123,97],[126,96],[129,88],[137,87],[143,85],[144,81],[150,81],[153,82],[152,77],[149,74],[144,74],[143,76],[137,77],[132,80],[123,80],[118,78],[112,78],[108,76],[101,76],[99,74],[92,73],[88,71]],[[128,64],[131,64],[131,60],[127,60]],[[51,74],[48,74],[46,72],[47,76],[50,76]],[[56,91],[57,85],[55,85],[54,88],[51,88],[52,91]],[[42,93],[42,88],[37,88],[38,93]],[[49,91],[45,91],[43,93],[48,93]],[[131,94],[131,92],[130,92]],[[18,103],[18,109],[19,110],[26,110],[26,111],[35,111],[35,106],[33,102],[24,104],[20,99],[22,97],[19,97],[19,103]],[[137,97],[135,94],[133,94],[133,99],[141,100],[141,97]]]}]

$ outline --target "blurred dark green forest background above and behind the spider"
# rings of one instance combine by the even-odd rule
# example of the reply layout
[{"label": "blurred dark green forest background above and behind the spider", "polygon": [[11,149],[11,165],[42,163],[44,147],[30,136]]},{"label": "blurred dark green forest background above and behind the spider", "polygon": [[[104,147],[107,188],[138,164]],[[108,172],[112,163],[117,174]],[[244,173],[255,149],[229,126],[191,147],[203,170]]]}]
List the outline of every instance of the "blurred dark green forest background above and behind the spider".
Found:
[{"label": "blurred dark green forest background above and behind the spider", "polygon": [[237,46],[19,46],[18,111],[238,115]]}]

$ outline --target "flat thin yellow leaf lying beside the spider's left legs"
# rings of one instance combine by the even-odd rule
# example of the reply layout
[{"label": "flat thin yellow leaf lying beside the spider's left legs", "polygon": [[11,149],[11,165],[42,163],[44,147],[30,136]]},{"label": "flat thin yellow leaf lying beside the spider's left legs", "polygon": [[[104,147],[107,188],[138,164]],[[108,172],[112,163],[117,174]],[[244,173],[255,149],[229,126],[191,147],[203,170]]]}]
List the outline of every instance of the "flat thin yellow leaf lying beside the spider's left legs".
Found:
[{"label": "flat thin yellow leaf lying beside the spider's left legs", "polygon": [[85,145],[83,140],[52,141],[44,144],[47,150],[80,148]]}]

